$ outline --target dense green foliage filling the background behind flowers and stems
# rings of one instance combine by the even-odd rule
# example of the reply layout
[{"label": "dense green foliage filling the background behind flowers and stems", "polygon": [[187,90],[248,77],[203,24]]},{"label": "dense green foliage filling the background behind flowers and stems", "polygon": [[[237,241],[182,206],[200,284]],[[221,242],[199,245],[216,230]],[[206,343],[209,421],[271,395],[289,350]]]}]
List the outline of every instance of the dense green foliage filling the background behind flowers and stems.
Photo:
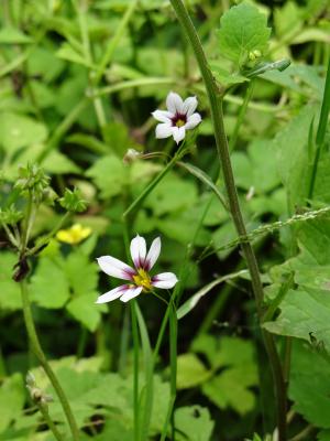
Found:
[{"label": "dense green foliage filling the background behind flowers and stems", "polygon": [[[264,326],[278,335],[284,358],[292,347],[289,435],[305,430],[301,439],[327,441],[329,213],[287,219],[330,202],[329,128],[309,192],[330,57],[329,6],[326,0],[186,3],[212,74],[226,88],[235,182],[261,262],[265,309],[273,311]],[[184,287],[175,439],[266,437],[274,429],[271,374],[237,233],[212,191],[216,185],[224,195],[206,90],[169,2],[2,0],[0,20],[1,207],[15,201],[18,168],[28,161],[51,175],[57,195],[76,186],[88,202],[87,211],[65,226],[80,223],[92,234],[74,246],[53,239],[33,259],[29,278],[42,344],[68,394],[81,440],[133,439],[129,309],[119,301],[95,304],[116,286],[99,273],[95,258],[125,260],[122,214],[164,169],[157,155],[124,163],[127,151],[170,157],[177,149],[172,139],[155,139],[151,116],[165,108],[169,90],[199,101],[202,123],[184,160],[190,170],[174,166],[129,222],[132,237],[162,236],[157,269],[174,271]],[[282,60],[290,60],[290,66],[270,67]],[[62,212],[41,206],[32,243],[57,225]],[[267,227],[278,220],[279,227]],[[29,347],[20,289],[12,280],[16,257],[7,245],[2,230],[0,440],[53,440],[24,386],[33,369],[38,387],[55,397]],[[139,304],[154,344],[165,306],[148,294]],[[154,378],[151,440],[160,439],[169,400],[166,343]],[[145,366],[140,367],[143,387]],[[56,399],[50,415],[65,432]]]}]

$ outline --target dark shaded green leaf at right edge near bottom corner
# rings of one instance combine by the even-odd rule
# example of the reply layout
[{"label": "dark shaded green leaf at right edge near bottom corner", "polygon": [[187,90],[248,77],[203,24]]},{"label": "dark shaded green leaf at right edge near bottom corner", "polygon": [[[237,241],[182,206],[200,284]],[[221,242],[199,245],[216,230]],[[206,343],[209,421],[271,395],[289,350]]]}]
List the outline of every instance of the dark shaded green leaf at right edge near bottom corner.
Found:
[{"label": "dark shaded green leaf at right edge near bottom corner", "polygon": [[329,359],[309,345],[296,342],[293,346],[288,395],[294,401],[294,409],[309,423],[322,429],[330,429],[329,378]]}]

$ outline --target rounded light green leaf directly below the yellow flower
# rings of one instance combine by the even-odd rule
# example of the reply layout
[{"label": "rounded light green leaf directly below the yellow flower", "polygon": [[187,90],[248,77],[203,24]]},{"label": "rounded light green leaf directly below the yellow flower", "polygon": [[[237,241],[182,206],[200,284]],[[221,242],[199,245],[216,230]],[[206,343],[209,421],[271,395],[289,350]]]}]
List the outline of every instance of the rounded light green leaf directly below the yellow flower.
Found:
[{"label": "rounded light green leaf directly below the yellow flower", "polygon": [[40,306],[47,309],[62,308],[68,300],[69,283],[62,265],[50,257],[42,257],[32,276],[30,298]]}]

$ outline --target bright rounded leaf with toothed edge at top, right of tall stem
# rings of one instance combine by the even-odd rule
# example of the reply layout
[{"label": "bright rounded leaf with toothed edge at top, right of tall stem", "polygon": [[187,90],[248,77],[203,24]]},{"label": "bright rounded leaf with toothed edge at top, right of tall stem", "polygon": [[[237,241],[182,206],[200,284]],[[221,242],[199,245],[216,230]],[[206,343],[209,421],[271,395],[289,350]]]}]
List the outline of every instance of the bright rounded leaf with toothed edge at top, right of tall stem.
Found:
[{"label": "bright rounded leaf with toothed edge at top, right of tall stem", "polygon": [[240,66],[246,62],[250,52],[263,53],[267,49],[270,35],[266,15],[248,2],[232,7],[221,17],[221,54]]}]

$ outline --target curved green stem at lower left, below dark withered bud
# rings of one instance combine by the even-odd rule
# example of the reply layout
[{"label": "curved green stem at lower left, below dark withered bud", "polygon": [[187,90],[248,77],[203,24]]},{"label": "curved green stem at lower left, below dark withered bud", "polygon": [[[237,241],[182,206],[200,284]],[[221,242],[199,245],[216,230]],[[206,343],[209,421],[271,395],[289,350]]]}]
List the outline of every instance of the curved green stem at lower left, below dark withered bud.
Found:
[{"label": "curved green stem at lower left, below dark withered bud", "polygon": [[54,370],[52,369],[51,365],[48,364],[48,362],[45,357],[45,354],[41,347],[41,344],[40,344],[40,341],[38,341],[38,337],[36,334],[36,330],[35,330],[34,322],[33,322],[33,316],[32,316],[32,312],[31,312],[30,301],[29,301],[28,283],[26,283],[25,279],[21,280],[20,287],[21,287],[21,294],[22,294],[24,322],[25,322],[28,336],[29,336],[29,340],[31,343],[31,348],[32,348],[33,353],[35,354],[36,358],[38,359],[40,364],[44,368],[47,377],[50,378],[50,380],[55,389],[55,392],[57,394],[57,397],[61,401],[62,408],[65,412],[66,419],[69,423],[73,440],[78,441],[79,440],[79,430],[78,430],[75,417],[73,415],[70,405],[68,402],[68,399],[66,398],[66,395],[65,395],[61,384],[58,383],[58,379],[57,379]]}]

